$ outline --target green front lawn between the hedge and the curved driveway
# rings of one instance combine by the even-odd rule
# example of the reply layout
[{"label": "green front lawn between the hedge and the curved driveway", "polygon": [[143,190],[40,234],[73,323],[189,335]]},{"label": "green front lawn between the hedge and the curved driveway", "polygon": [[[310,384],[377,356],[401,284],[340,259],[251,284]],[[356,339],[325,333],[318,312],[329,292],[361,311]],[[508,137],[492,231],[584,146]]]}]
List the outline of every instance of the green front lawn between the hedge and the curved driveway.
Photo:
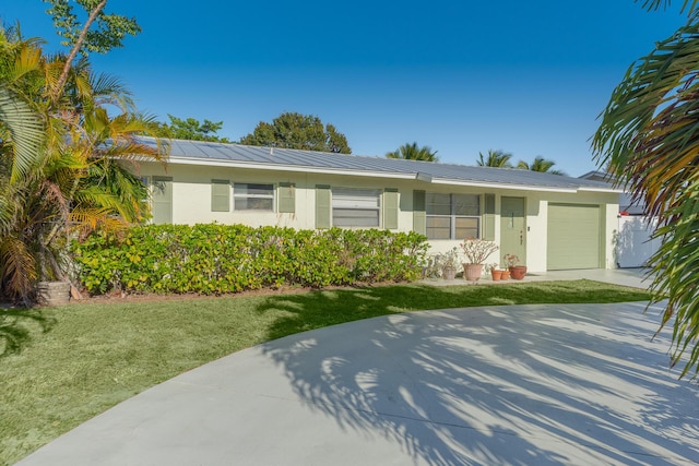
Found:
[{"label": "green front lawn between the hedge and the curved driveway", "polygon": [[0,464],[21,459],[183,371],[294,333],[426,309],[648,299],[647,292],[635,288],[576,280],[400,285],[0,310],[0,340],[23,346],[0,358]]}]

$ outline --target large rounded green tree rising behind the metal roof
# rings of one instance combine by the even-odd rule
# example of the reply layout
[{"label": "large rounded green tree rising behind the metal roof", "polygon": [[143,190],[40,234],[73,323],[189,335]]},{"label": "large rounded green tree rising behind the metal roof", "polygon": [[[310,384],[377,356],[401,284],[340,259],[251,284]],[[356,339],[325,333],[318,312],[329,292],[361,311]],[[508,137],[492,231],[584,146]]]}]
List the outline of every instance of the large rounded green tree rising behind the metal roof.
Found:
[{"label": "large rounded green tree rising behind the metal roof", "polygon": [[352,153],[347,139],[334,126],[323,127],[320,118],[296,112],[282,113],[272,123],[260,121],[252,133],[240,139],[240,144]]}]

